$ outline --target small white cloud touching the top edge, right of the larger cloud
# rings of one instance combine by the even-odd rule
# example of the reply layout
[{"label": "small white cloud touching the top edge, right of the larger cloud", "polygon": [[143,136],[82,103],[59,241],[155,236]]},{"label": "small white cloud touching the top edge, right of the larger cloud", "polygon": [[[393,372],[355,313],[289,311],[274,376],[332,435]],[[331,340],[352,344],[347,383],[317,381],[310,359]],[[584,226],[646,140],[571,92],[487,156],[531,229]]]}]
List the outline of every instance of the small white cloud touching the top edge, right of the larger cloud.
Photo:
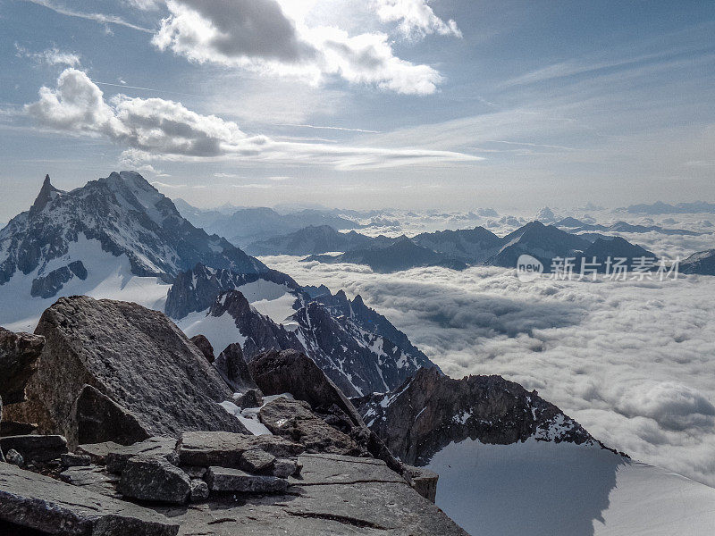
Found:
[{"label": "small white cloud touching the top edge, right of the larger cloud", "polygon": [[429,0],[372,0],[383,22],[399,22],[398,29],[407,38],[425,38],[427,34],[462,37],[455,21],[442,21],[428,5]]}]

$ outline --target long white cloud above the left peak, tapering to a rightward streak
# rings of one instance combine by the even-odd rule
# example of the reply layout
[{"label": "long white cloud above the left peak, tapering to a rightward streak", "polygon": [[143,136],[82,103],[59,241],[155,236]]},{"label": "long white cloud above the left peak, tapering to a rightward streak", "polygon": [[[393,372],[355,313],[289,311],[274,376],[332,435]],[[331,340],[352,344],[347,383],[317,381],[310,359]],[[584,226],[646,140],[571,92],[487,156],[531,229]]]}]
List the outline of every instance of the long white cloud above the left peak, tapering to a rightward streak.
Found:
[{"label": "long white cloud above the left peak, tapering to a rightward streak", "polygon": [[128,147],[122,156],[133,163],[253,159],[354,169],[479,160],[448,151],[342,147],[248,135],[234,121],[196,113],[161,98],[120,94],[106,101],[85,72],[71,68],[59,76],[56,88],[40,88],[38,101],[25,110],[46,127],[105,137]]}]

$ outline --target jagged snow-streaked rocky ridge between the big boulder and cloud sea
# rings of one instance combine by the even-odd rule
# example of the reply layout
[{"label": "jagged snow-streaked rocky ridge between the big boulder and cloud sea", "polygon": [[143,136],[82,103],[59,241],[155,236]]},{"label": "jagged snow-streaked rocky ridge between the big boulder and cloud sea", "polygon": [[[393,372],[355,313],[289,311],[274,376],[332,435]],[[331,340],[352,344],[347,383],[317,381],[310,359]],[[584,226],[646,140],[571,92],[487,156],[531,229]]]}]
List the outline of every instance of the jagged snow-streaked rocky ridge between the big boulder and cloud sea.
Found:
[{"label": "jagged snow-streaked rocky ridge between the big boulder and cloud sea", "polygon": [[[250,292],[255,301],[273,298],[292,307],[283,307],[282,314],[271,318],[260,314],[241,291]],[[177,277],[166,311],[177,315],[204,311],[198,308],[209,299],[213,301],[205,314],[179,322],[189,335],[213,337],[212,345],[222,347],[214,348],[216,352],[240,342],[248,361],[270,349],[304,352],[350,396],[393,389],[420,367],[435,366],[361,297],[349,300],[344,292],[332,295],[328,289],[315,297],[279,272],[243,276],[196,266]],[[227,335],[227,319],[235,326],[232,339]]]}]

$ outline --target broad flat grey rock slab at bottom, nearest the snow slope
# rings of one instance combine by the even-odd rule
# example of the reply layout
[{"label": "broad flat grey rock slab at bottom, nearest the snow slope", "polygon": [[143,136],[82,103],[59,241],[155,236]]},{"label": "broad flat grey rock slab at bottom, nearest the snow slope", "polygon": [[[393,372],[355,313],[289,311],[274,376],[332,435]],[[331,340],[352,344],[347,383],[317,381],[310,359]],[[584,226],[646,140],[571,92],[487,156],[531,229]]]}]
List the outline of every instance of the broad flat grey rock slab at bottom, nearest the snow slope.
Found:
[{"label": "broad flat grey rock slab at bottom, nearest the snow slope", "polygon": [[[181,536],[467,536],[406,482],[389,482],[394,477],[383,473],[390,470],[381,462],[318,455],[299,456],[299,461],[315,474],[313,485],[291,485],[284,495],[212,496],[189,509],[157,511],[181,524]],[[361,470],[376,472],[378,480],[331,482],[333,475],[351,479]]]}]

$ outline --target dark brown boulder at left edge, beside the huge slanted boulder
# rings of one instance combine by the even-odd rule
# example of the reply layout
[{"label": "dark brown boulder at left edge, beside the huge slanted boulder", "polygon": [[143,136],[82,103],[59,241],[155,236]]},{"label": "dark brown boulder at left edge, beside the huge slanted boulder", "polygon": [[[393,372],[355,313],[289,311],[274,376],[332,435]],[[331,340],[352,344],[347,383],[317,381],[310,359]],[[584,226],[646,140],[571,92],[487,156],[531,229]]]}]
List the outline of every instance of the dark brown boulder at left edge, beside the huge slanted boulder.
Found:
[{"label": "dark brown boulder at left edge, beside the huge slanted boulder", "polygon": [[25,399],[25,386],[38,370],[45,339],[0,328],[0,397],[7,406]]}]

